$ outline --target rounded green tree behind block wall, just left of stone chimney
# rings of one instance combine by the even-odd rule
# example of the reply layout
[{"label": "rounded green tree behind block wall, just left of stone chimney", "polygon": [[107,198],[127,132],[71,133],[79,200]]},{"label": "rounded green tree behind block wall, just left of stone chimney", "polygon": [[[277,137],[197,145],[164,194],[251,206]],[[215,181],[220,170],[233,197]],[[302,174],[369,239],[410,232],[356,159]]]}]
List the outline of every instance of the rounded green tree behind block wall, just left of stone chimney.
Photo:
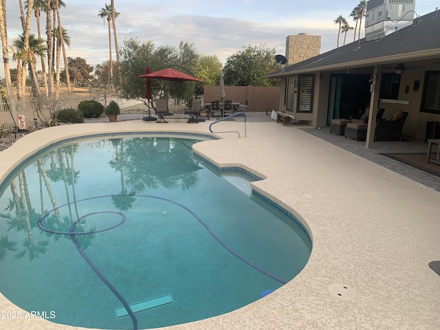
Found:
[{"label": "rounded green tree behind block wall, just left of stone chimney", "polygon": [[236,52],[226,59],[223,69],[225,85],[278,86],[278,79],[263,78],[279,69],[275,53],[275,48],[265,45],[243,46],[243,51]]}]

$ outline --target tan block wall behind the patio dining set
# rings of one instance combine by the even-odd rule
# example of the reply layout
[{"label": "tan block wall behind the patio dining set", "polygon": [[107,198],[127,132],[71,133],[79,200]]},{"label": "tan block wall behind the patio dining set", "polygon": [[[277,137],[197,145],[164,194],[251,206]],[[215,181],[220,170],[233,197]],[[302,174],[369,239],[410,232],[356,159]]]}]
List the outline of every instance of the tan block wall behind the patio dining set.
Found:
[{"label": "tan block wall behind the patio dining set", "polygon": [[[219,100],[220,87],[205,85],[203,103]],[[280,87],[225,86],[225,100],[244,104],[249,100],[248,111],[278,109]]]}]

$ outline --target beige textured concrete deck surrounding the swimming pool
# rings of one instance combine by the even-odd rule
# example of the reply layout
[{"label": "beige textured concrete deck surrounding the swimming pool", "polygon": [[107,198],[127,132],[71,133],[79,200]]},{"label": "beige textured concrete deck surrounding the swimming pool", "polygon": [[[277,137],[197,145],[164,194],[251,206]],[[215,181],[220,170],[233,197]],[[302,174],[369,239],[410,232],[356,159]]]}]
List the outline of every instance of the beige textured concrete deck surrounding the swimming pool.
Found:
[{"label": "beige textured concrete deck surrounding the swimming pool", "polygon": [[[43,129],[0,153],[0,179],[39,148],[68,137],[209,133],[211,122],[130,120]],[[238,120],[212,128],[244,132]],[[291,211],[309,230],[309,263],[287,285],[255,303],[162,329],[440,329],[440,276],[428,267],[440,260],[440,193],[310,135],[302,124],[262,120],[249,122],[247,131],[246,138],[217,134],[219,140],[193,148],[218,166],[241,166],[265,178],[252,188]],[[19,310],[0,295],[0,311]],[[0,328],[80,329],[41,319],[0,319]]]}]

